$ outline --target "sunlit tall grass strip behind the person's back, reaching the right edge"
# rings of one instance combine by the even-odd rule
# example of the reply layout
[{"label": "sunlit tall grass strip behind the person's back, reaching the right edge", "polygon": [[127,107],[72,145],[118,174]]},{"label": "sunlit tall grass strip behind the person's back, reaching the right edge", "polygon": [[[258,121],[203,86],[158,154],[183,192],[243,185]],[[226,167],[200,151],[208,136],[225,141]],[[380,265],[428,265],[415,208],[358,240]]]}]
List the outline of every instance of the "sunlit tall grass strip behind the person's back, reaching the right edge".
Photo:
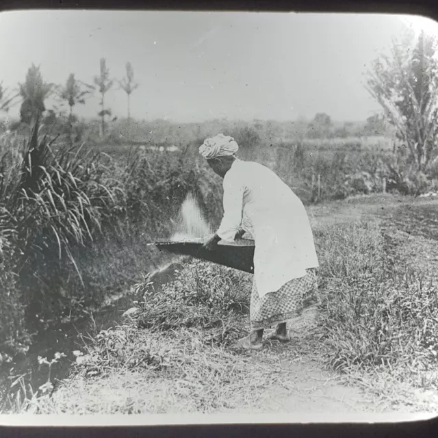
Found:
[{"label": "sunlit tall grass strip behind the person's back, reaching the right edge", "polygon": [[307,204],[383,190],[418,196],[438,188],[436,162],[425,172],[417,172],[403,149],[378,150],[350,140],[336,142],[281,142],[244,155],[272,168]]}]

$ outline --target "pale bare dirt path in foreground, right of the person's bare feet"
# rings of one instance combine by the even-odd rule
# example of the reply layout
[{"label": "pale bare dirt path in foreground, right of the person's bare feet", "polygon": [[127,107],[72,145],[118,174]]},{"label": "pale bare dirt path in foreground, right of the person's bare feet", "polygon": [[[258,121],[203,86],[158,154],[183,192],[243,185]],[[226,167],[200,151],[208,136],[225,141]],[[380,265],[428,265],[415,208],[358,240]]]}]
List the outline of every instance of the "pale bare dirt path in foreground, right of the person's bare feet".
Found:
[{"label": "pale bare dirt path in foreground, right of the person's bare feet", "polygon": [[[327,418],[330,418],[327,415],[336,415],[343,422],[357,417],[370,419],[374,414],[415,415],[438,412],[438,396],[435,394],[428,394],[426,391],[406,392],[400,386],[398,394],[398,389],[394,388],[394,399],[378,397],[365,385],[351,383],[350,379],[324,369],[318,342],[310,339],[309,344],[302,343],[314,318],[315,311],[310,309],[301,320],[296,321],[298,324],[302,323],[302,327],[294,327],[296,332],[291,333],[293,342],[288,346],[266,346],[267,355],[279,357],[278,368],[273,372],[283,373],[287,378],[283,375],[281,384],[266,388],[263,404],[257,407],[257,411],[294,415],[311,413],[315,415],[315,421],[319,421],[319,415]],[[257,357],[257,360],[263,361],[263,357]],[[287,385],[284,384],[285,380]],[[235,411],[241,412],[241,409]],[[252,413],[253,410],[248,409],[246,412]]]}]

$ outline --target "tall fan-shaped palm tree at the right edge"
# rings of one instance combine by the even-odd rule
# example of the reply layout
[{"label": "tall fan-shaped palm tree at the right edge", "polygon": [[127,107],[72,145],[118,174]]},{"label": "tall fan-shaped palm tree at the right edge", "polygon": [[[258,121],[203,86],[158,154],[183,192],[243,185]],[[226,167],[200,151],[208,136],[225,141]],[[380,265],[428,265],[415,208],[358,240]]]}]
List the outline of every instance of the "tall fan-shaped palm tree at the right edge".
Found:
[{"label": "tall fan-shaped palm tree at the right edge", "polygon": [[409,150],[417,170],[438,157],[438,40],[408,32],[378,57],[368,72],[367,89],[385,119]]}]

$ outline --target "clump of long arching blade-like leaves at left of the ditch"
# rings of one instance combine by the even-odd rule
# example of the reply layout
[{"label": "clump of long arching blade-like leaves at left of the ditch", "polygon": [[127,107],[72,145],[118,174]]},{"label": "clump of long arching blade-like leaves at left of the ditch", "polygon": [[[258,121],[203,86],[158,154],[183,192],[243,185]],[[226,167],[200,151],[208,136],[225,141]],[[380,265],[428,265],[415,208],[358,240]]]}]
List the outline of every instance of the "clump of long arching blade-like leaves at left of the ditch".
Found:
[{"label": "clump of long arching blade-like leaves at left of the ditch", "polygon": [[65,149],[53,153],[47,138],[38,144],[36,131],[27,144],[13,215],[24,253],[21,283],[32,304],[44,301],[69,267],[82,281],[75,255],[116,214],[123,192],[96,158]]}]

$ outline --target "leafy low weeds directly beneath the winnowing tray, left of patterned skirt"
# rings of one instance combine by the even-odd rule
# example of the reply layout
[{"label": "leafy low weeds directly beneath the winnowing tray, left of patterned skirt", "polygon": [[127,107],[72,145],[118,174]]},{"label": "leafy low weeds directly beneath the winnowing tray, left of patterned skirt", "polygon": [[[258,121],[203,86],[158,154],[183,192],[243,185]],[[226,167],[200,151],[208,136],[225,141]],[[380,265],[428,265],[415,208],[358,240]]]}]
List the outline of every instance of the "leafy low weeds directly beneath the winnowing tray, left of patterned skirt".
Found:
[{"label": "leafy low weeds directly beneath the winnowing tray, left of patterned skirt", "polygon": [[238,317],[249,313],[251,281],[248,274],[191,261],[158,294],[145,289],[138,326],[161,332],[181,327],[218,329],[207,337],[228,342],[236,333],[233,324],[241,322]]}]

